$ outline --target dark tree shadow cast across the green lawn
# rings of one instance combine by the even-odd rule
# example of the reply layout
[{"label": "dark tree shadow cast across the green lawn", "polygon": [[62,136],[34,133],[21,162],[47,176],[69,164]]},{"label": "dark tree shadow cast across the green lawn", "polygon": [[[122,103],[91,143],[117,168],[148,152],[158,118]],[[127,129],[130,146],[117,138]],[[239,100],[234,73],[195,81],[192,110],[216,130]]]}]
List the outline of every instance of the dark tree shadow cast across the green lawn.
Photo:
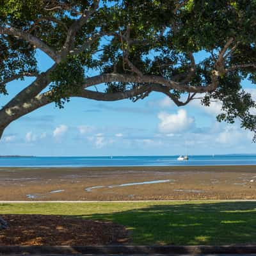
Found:
[{"label": "dark tree shadow cast across the green lawn", "polygon": [[256,244],[256,203],[151,205],[113,214],[79,215],[125,225],[134,244]]}]

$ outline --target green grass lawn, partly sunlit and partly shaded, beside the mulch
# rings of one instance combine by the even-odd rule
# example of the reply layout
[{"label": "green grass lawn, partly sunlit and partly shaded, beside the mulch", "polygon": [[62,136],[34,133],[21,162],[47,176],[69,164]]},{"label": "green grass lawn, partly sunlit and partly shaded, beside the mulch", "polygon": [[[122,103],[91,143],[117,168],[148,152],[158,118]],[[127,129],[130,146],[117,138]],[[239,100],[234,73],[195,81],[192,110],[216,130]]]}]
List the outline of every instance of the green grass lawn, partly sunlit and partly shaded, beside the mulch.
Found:
[{"label": "green grass lawn, partly sunlit and partly shaded, beside the mulch", "polygon": [[0,204],[0,214],[114,221],[132,231],[133,244],[256,243],[255,202]]}]

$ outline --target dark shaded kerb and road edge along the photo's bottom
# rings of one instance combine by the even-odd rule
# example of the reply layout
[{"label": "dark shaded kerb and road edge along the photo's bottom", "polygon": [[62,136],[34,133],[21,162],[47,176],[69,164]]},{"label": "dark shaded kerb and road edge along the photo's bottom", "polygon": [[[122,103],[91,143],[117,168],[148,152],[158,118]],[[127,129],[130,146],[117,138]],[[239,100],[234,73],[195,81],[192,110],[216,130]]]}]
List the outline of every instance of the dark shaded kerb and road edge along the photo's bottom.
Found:
[{"label": "dark shaded kerb and road edge along the photo's bottom", "polygon": [[0,246],[0,255],[256,255],[246,246]]}]

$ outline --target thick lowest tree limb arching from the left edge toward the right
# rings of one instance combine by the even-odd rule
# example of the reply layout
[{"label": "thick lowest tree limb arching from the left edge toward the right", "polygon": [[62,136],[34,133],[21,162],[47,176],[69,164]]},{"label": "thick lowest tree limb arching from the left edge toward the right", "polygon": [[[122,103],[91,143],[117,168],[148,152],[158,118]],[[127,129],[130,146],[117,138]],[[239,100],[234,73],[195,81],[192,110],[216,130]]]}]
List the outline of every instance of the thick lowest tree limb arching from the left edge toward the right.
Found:
[{"label": "thick lowest tree limb arching from the left edge toward the right", "polygon": [[[25,88],[22,92],[20,92],[13,100],[11,100],[3,109],[0,110],[0,120],[1,122],[1,131],[16,120],[20,116],[24,116],[35,109],[41,108],[45,106],[53,100],[51,99],[52,91],[48,91],[38,95],[47,84],[49,83],[49,73],[55,67],[52,66],[47,70],[47,72],[40,74],[37,79],[27,88]],[[108,82],[124,82],[124,83],[143,83],[141,86],[137,86],[132,88],[131,90],[127,90],[125,92],[117,92],[117,93],[102,93],[102,92],[94,92],[91,90],[84,90],[84,88],[88,88],[89,86],[93,86],[101,83]],[[40,84],[42,83],[42,84]],[[143,97],[147,97],[150,92],[163,92],[168,95],[170,99],[177,104],[177,106],[184,106],[191,101],[196,92],[209,92],[209,88],[211,89],[211,84],[209,86],[184,86],[183,84],[176,83],[174,81],[170,81],[164,79],[163,77],[157,76],[133,76],[127,74],[102,74],[100,76],[90,77],[86,79],[83,88],[81,88],[78,93],[70,93],[65,95],[65,97],[83,97],[86,99],[93,100],[104,100],[104,101],[114,101],[114,100],[122,100],[122,99],[143,99]],[[186,102],[181,102],[177,96],[170,92],[171,89],[176,90],[184,90],[187,88],[187,92],[190,90],[192,95],[189,94]]]}]

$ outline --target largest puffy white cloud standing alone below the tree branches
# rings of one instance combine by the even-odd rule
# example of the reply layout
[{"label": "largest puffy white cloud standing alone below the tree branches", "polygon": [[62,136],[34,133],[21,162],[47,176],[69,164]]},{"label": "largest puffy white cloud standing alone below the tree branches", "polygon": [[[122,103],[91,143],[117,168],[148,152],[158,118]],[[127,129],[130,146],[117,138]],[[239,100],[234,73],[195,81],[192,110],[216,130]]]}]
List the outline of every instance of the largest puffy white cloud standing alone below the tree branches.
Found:
[{"label": "largest puffy white cloud standing alone below the tree branches", "polygon": [[179,109],[177,114],[161,112],[157,117],[160,119],[159,131],[168,134],[184,131],[194,123],[194,118],[188,117],[184,109]]}]

